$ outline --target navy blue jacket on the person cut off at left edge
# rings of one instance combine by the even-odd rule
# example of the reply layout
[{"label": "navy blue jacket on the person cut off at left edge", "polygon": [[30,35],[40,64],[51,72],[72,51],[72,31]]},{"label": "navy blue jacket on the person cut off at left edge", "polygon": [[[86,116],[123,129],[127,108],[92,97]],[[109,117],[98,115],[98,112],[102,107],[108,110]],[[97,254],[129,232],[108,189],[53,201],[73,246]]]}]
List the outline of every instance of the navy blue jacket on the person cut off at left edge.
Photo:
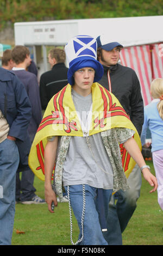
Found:
[{"label": "navy blue jacket on the person cut off at left edge", "polygon": [[32,116],[31,105],[21,81],[3,68],[0,68],[0,109],[10,127],[8,135],[16,138],[20,154],[18,169],[29,169],[28,155],[31,143],[27,128]]}]

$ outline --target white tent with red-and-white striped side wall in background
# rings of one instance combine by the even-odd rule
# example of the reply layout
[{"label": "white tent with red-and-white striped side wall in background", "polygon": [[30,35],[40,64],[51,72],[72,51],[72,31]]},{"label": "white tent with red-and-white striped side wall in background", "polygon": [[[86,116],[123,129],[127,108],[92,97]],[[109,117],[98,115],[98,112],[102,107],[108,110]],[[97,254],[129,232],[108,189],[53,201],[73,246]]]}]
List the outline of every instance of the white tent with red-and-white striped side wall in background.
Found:
[{"label": "white tent with red-and-white striped side wall in background", "polygon": [[32,48],[40,74],[48,70],[46,46],[64,46],[76,35],[107,35],[120,42],[122,65],[139,76],[145,105],[151,101],[153,78],[163,77],[163,16],[123,17],[15,23],[15,45]]}]

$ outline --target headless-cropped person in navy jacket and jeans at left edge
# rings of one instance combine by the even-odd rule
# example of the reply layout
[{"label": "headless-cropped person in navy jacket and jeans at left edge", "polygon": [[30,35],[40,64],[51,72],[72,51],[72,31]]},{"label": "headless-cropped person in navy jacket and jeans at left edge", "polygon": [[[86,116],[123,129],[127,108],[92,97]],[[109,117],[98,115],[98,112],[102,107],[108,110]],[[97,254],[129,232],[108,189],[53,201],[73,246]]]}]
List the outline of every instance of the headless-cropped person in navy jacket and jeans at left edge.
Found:
[{"label": "headless-cropped person in navy jacket and jeans at left edge", "polygon": [[27,168],[31,105],[12,72],[0,68],[0,245],[11,245],[18,168]]}]

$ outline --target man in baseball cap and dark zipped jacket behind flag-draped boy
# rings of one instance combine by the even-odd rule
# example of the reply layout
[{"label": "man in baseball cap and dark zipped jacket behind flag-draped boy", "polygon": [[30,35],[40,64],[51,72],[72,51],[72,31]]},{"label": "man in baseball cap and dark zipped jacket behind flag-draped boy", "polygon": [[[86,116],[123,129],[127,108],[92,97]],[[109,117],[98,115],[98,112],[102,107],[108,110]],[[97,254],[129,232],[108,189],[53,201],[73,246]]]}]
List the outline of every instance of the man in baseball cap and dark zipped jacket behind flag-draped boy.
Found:
[{"label": "man in baseball cap and dark zipped jacket behind flag-draped boy", "polygon": [[[133,69],[118,63],[123,48],[119,42],[109,41],[107,36],[101,35],[97,37],[97,47],[97,58],[104,68],[99,83],[117,97],[140,136],[144,110],[139,79]],[[141,188],[141,172],[137,164],[129,175],[128,183],[130,190],[118,191],[116,205],[115,196],[109,204],[110,245],[122,245],[122,232],[136,209]]]}]

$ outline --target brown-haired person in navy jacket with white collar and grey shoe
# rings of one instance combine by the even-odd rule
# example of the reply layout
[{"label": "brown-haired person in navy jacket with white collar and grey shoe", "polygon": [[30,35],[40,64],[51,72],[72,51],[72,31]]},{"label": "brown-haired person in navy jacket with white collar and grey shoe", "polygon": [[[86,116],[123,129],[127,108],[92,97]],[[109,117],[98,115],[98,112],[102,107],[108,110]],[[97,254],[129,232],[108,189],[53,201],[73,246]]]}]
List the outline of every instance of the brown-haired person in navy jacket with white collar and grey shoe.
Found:
[{"label": "brown-haired person in navy jacket with white collar and grey shoe", "polygon": [[[29,49],[25,46],[17,45],[12,50],[11,55],[15,62],[15,67],[12,69],[12,72],[14,72],[24,84],[32,105],[32,118],[28,126],[30,141],[32,143],[42,119],[39,84],[37,82],[37,77],[33,73],[26,71],[31,62]],[[29,169],[22,172],[21,180],[20,174],[16,174],[16,202],[21,202],[22,204],[45,203],[44,199],[35,194],[36,189],[33,186],[33,183],[34,173],[32,170]]]}]

